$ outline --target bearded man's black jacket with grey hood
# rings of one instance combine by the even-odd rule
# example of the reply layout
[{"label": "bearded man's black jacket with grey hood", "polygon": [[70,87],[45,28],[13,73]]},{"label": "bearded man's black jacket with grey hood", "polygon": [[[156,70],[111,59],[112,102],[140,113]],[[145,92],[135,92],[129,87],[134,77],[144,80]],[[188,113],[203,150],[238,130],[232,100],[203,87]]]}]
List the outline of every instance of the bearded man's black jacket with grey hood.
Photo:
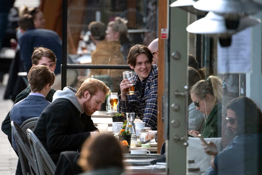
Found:
[{"label": "bearded man's black jacket with grey hood", "polygon": [[43,110],[34,133],[56,164],[60,152],[78,151],[83,142],[95,131],[91,116],[81,111],[76,90],[65,87],[57,90],[53,102]]}]

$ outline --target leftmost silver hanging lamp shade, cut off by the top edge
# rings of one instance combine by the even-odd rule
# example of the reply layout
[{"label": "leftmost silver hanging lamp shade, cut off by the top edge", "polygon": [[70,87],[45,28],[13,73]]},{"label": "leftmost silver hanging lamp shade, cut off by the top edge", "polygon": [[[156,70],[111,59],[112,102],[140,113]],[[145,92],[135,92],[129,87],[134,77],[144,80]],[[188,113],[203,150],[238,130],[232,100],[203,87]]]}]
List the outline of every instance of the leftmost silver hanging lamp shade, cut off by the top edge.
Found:
[{"label": "leftmost silver hanging lamp shade, cut off by the top edge", "polygon": [[205,16],[207,14],[207,12],[202,11],[202,10],[198,10],[195,9],[193,7],[193,4],[198,1],[198,0],[177,0],[175,2],[173,2],[170,7],[178,7],[182,10],[185,10],[187,12],[196,14],[198,16]]}]

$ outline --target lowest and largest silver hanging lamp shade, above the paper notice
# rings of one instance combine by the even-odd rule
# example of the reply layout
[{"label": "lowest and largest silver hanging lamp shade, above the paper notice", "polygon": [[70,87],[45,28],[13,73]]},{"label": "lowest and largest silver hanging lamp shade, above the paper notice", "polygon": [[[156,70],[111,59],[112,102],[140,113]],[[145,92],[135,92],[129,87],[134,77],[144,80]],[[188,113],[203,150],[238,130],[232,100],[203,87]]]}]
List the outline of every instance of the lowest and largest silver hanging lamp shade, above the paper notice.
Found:
[{"label": "lowest and largest silver hanging lamp shade, above the paper notice", "polygon": [[214,12],[209,12],[204,18],[198,19],[187,26],[186,30],[189,33],[205,34],[209,37],[228,38],[234,33],[258,23],[261,23],[259,18],[245,16],[239,19],[238,27],[232,30],[226,27],[226,20],[223,16]]}]

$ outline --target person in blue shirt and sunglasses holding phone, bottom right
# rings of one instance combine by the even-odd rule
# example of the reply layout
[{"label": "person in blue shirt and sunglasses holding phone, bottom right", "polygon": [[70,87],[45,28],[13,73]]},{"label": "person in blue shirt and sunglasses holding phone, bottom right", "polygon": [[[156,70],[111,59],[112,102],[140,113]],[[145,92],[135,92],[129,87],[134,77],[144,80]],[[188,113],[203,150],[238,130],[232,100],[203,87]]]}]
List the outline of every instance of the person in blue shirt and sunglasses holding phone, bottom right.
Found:
[{"label": "person in blue shirt and sunglasses holding phone, bottom right", "polygon": [[206,175],[261,174],[261,110],[245,96],[231,100],[226,109],[227,127],[236,136],[221,152],[213,142],[201,143],[205,153],[212,156]]}]

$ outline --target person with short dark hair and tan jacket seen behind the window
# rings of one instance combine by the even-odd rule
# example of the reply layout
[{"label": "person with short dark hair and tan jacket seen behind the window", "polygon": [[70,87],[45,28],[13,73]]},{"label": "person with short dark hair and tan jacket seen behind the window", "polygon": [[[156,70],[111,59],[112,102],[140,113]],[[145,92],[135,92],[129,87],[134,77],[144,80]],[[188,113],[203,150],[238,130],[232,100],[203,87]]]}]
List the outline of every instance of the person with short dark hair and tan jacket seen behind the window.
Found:
[{"label": "person with short dark hair and tan jacket seen behind the window", "polygon": [[[93,21],[88,25],[91,32],[90,38],[96,44],[96,49],[91,53],[92,65],[125,65],[121,44],[119,41],[105,40],[106,26],[102,22]],[[119,69],[90,69],[90,76],[100,80],[107,79],[107,86],[112,92],[118,92],[119,82],[123,79],[122,70]]]}]

